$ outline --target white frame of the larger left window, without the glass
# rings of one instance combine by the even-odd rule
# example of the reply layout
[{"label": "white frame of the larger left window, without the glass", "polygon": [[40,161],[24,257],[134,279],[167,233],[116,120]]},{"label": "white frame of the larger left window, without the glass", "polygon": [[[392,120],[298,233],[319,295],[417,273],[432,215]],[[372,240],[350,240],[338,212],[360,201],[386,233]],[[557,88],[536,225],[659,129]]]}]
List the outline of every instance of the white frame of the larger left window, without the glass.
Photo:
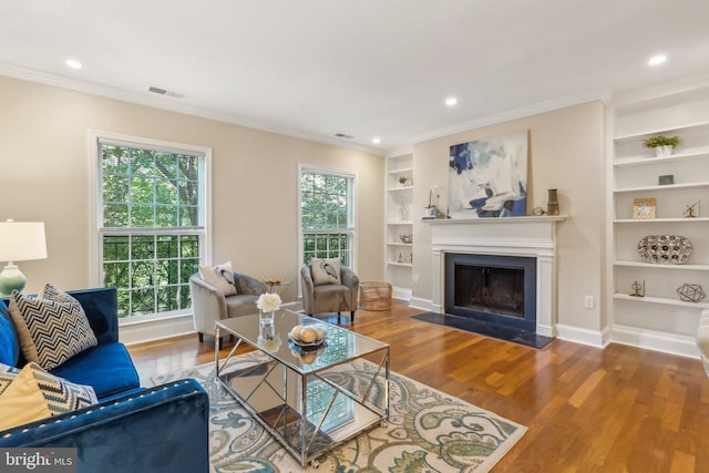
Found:
[{"label": "white frame of the larger left window, without the glass", "polygon": [[[103,184],[102,184],[102,144],[131,146],[141,150],[164,151],[168,153],[201,155],[203,160],[203,173],[199,185],[203,192],[199,195],[199,213],[202,233],[199,245],[199,265],[206,265],[212,260],[212,148],[208,146],[199,146],[185,143],[168,142],[164,140],[146,138],[142,136],[132,136],[120,133],[90,130],[89,131],[89,167],[91,178],[92,195],[90,202],[90,216],[92,218],[90,228],[89,245],[89,279],[93,287],[104,286],[103,275],[103,237],[104,235],[115,235],[115,228],[104,228],[102,222],[103,215]],[[171,234],[182,234],[185,232],[195,232],[195,227],[177,227]],[[132,228],[131,230],[120,232],[122,235],[141,235],[151,234],[160,235],[161,228]],[[166,232],[165,232],[166,233]],[[141,323],[146,321],[164,320],[174,317],[182,317],[191,313],[191,309],[185,308],[168,312],[158,312],[151,315],[132,316],[129,318],[120,318],[119,325]]]}]

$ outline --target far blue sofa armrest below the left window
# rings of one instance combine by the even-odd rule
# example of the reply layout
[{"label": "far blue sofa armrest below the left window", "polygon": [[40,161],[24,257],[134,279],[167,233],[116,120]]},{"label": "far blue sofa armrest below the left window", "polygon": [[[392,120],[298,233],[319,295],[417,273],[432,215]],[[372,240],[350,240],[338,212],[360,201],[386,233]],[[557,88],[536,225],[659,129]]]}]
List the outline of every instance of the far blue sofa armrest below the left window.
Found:
[{"label": "far blue sofa armrest below the left window", "polygon": [[99,345],[119,341],[119,296],[114,287],[68,291],[86,313]]}]

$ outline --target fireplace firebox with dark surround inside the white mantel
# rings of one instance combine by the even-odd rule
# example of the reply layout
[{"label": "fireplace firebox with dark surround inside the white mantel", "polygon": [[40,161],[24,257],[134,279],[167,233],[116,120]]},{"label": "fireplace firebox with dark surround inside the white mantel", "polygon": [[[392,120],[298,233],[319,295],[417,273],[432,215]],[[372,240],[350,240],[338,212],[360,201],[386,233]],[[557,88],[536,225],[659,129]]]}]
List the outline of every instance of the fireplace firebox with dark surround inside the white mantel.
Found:
[{"label": "fireplace firebox with dark surround inside the white mantel", "polygon": [[536,331],[536,259],[445,255],[445,313]]}]

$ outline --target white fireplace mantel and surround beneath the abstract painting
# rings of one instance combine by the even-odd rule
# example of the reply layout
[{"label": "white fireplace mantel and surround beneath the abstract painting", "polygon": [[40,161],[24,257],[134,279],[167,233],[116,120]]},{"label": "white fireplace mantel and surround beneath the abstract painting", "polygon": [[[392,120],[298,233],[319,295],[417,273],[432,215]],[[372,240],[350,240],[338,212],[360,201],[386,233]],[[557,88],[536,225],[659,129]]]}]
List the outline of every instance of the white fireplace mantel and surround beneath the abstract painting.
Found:
[{"label": "white fireplace mantel and surround beneath the abstract painting", "polygon": [[432,219],[433,310],[444,312],[446,253],[536,258],[536,332],[556,336],[556,228],[566,216]]}]

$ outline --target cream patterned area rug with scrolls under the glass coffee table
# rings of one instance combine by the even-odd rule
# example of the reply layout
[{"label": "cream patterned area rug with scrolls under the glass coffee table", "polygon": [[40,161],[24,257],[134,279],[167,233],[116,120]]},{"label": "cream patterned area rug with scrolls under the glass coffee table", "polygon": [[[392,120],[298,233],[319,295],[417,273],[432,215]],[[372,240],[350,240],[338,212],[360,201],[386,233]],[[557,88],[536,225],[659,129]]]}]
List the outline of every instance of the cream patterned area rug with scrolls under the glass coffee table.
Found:
[{"label": "cream patterned area rug with scrolls under the glass coffee table", "polygon": [[[239,356],[240,368],[263,360]],[[374,370],[363,360],[338,376],[361,378]],[[486,472],[522,438],[526,428],[452,398],[401,374],[390,374],[390,417],[302,469],[227,391],[215,382],[214,363],[155,377],[155,384],[196,379],[209,394],[212,472]],[[382,391],[383,392],[383,391]]]}]

